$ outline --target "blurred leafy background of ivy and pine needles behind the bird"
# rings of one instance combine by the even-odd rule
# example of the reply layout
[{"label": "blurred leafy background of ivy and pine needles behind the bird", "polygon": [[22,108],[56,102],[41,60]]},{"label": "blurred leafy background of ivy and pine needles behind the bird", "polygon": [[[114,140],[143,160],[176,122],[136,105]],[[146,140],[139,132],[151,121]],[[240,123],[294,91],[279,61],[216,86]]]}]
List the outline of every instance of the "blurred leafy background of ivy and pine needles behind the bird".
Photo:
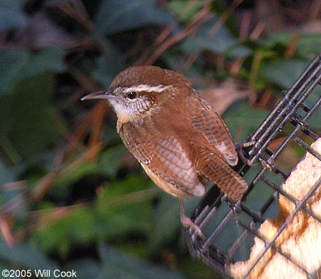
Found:
[{"label": "blurred leafy background of ivy and pine needles behind the bird", "polygon": [[318,0],[1,0],[0,269],[220,278],[188,255],[178,201],[121,144],[111,107],[80,98],[159,65],[245,140],[321,51],[320,16]]}]

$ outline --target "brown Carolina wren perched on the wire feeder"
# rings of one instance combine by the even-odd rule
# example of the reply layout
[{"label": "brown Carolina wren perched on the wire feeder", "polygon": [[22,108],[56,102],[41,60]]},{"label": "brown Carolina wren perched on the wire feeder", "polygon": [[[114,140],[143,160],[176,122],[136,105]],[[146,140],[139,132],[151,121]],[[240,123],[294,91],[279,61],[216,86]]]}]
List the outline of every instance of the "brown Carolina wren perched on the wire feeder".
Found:
[{"label": "brown Carolina wren perched on the wire feeder", "polygon": [[179,199],[181,223],[199,236],[200,228],[183,212],[183,199],[203,196],[204,179],[234,201],[248,189],[229,166],[238,163],[238,154],[228,128],[183,75],[156,66],[127,68],[107,90],[81,100],[88,99],[110,102],[124,144],[148,176]]}]

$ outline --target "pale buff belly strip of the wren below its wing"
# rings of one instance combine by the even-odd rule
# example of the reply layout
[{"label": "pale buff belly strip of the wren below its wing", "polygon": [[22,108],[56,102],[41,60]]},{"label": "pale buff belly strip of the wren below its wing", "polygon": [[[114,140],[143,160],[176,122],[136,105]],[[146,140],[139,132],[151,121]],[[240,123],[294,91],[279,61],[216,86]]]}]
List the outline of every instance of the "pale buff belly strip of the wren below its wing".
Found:
[{"label": "pale buff belly strip of the wren below its wing", "polygon": [[148,166],[146,166],[146,164],[141,164],[141,167],[143,167],[146,174],[148,174],[148,177],[151,177],[153,182],[166,193],[175,196],[178,199],[186,199],[192,196],[184,191],[181,191],[177,186],[171,184],[170,182],[165,181],[165,179],[151,171],[151,169]]}]

